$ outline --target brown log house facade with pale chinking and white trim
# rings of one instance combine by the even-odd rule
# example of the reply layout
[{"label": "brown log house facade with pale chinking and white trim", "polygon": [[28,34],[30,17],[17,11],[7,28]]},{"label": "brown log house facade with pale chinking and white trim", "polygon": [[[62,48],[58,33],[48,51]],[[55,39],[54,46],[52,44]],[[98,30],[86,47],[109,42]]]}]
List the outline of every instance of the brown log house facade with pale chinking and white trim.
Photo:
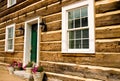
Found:
[{"label": "brown log house facade with pale chinking and white trim", "polygon": [[[30,60],[36,61],[37,65],[44,66],[47,81],[120,81],[119,0],[15,0],[8,5],[9,1],[0,0],[0,62],[17,60],[25,65]],[[92,45],[93,51],[64,52],[64,44],[69,48],[70,42],[63,40],[63,18],[66,17],[63,8],[85,1],[93,2],[94,31],[88,32],[89,37],[94,33],[93,43],[88,44]],[[68,9],[68,13],[74,9]],[[47,31],[42,31],[42,21],[46,23]],[[36,56],[31,56],[32,41],[36,41]]]}]

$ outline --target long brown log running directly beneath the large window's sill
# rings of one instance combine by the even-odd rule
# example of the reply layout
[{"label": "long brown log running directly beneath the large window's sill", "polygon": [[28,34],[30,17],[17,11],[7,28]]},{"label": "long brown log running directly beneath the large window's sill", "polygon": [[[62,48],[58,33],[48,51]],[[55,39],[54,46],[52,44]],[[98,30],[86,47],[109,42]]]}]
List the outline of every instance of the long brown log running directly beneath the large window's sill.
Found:
[{"label": "long brown log running directly beneath the large window's sill", "polygon": [[120,54],[114,54],[114,53],[113,54],[96,53],[94,57],[89,57],[89,54],[88,57],[86,56],[74,57],[74,56],[63,56],[61,53],[54,53],[54,52],[52,53],[41,52],[41,57],[40,57],[41,61],[77,63],[83,65],[105,66],[105,67],[114,67],[114,68],[120,68],[119,58],[120,58]]}]

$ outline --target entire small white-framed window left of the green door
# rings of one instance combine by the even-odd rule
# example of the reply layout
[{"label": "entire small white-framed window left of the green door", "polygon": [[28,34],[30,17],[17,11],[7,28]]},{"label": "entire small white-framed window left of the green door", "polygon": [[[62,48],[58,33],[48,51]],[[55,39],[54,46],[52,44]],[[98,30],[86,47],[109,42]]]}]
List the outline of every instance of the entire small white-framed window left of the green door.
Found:
[{"label": "entire small white-framed window left of the green door", "polygon": [[14,34],[15,34],[15,24],[6,27],[6,41],[5,41],[5,51],[14,51]]}]

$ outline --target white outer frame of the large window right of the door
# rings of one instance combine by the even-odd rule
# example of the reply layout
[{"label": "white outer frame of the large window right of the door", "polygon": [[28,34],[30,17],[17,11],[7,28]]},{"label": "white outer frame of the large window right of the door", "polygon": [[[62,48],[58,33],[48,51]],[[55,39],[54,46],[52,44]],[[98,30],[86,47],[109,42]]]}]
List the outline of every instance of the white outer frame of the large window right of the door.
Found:
[{"label": "white outer frame of the large window right of the door", "polygon": [[[69,49],[68,10],[88,6],[89,49]],[[82,0],[62,7],[62,53],[95,53],[95,14],[94,0]]]}]

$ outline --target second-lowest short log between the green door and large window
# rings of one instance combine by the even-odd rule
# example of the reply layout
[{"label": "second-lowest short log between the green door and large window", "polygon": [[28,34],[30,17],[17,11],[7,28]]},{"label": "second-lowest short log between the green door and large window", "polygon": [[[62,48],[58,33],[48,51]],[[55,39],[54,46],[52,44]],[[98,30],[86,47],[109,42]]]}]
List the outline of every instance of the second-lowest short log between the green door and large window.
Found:
[{"label": "second-lowest short log between the green door and large window", "polygon": [[41,42],[46,41],[60,41],[61,40],[61,32],[57,33],[44,33],[41,35]]}]

